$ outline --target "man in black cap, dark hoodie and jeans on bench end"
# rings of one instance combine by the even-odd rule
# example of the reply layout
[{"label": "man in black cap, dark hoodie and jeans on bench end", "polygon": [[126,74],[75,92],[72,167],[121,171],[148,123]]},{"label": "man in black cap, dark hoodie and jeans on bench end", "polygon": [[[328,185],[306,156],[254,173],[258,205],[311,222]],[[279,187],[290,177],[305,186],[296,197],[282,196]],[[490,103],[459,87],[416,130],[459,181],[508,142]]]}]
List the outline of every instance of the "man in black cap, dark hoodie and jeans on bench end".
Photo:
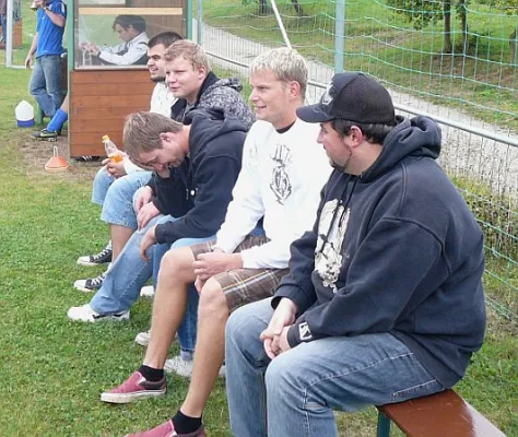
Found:
[{"label": "man in black cap, dark hoodie and jeans on bench end", "polygon": [[353,72],[297,115],[334,172],[273,298],[227,322],[235,436],[337,436],[333,410],[454,386],[484,336],[483,235],[435,162],[436,122],[396,117]]}]

